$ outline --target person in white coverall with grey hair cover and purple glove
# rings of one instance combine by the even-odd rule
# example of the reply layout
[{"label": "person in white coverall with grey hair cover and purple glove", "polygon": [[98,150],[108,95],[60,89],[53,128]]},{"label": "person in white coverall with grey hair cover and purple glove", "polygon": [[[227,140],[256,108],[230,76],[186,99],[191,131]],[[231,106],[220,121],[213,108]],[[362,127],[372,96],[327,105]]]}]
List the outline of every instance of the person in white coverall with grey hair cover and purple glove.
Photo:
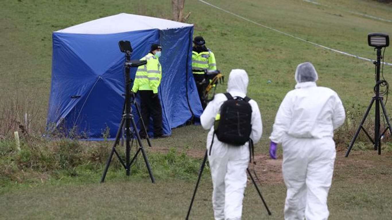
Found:
[{"label": "person in white coverall with grey hair cover and purple glove", "polygon": [[285,220],[326,220],[328,191],[336,157],[334,130],[345,120],[338,94],[318,87],[312,63],[298,65],[297,84],[279,106],[270,136],[270,156],[282,143],[283,179],[287,187]]}]

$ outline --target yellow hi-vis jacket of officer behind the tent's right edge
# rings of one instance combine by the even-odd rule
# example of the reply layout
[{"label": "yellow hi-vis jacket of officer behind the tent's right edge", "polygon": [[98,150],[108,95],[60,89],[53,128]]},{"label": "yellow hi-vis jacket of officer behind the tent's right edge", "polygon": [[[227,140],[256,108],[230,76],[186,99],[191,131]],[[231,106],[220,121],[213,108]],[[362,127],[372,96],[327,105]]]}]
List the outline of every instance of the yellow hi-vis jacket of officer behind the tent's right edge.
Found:
[{"label": "yellow hi-vis jacket of officer behind the tent's right edge", "polygon": [[214,53],[211,50],[200,53],[192,51],[193,74],[204,74],[204,70],[216,70]]}]

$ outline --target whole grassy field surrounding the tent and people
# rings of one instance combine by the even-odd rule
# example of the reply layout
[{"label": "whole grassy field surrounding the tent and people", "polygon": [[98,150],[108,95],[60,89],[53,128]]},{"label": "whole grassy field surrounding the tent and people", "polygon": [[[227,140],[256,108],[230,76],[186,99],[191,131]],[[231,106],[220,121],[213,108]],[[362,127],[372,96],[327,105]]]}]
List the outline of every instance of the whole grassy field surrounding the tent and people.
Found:
[{"label": "whole grassy field surrounding the tent and people", "polygon": [[[45,127],[53,31],[118,13],[170,18],[170,2],[4,1],[0,9],[0,164],[5,166],[0,168],[0,174],[16,174],[14,179],[0,176],[0,219],[185,218],[205,149],[207,132],[200,126],[176,128],[171,138],[152,141],[153,148],[146,150],[156,184],[151,184],[142,157],[138,159],[139,170],[131,177],[126,177],[118,164],[111,167],[105,184],[99,180],[106,157],[100,162],[82,162],[80,166],[63,167],[56,172],[38,172],[32,167],[20,169],[17,163],[32,157],[14,152],[15,143],[10,136],[11,124],[27,112],[34,138],[33,141],[22,139],[22,148],[31,148],[33,152],[42,146],[58,146],[56,142],[37,137]],[[223,74],[228,75],[234,68],[247,70],[248,96],[258,102],[263,118],[263,137],[256,146],[259,159],[256,170],[273,215],[267,215],[250,182],[245,192],[243,219],[283,218],[285,186],[281,180],[281,160],[268,159],[268,136],[281,100],[295,85],[295,68],[304,61],[311,61],[318,70],[318,85],[338,92],[348,116],[347,123],[336,135],[343,151],[338,152],[328,197],[330,219],[390,219],[392,144],[383,142],[382,154],[377,155],[369,150],[372,146],[361,133],[350,156],[344,157],[353,130],[374,95],[374,65],[315,44],[376,59],[374,49],[367,45],[367,34],[392,35],[392,5],[371,0],[206,2],[215,7],[204,1],[186,0],[184,12],[191,12],[186,22],[194,24],[195,35],[205,38]],[[384,61],[392,63],[390,47],[385,50]],[[387,81],[391,75],[392,66],[384,65],[383,76]],[[268,80],[272,83],[267,83]],[[225,85],[218,90],[224,91]],[[392,114],[389,103],[387,112]],[[370,135],[373,118],[374,110],[367,121]],[[383,140],[391,140],[389,133]],[[100,147],[106,153],[103,155],[111,147],[110,142],[79,144],[86,149]],[[42,158],[45,151],[40,153]],[[188,170],[181,169],[188,163]],[[212,218],[211,191],[207,169],[191,219]]]}]

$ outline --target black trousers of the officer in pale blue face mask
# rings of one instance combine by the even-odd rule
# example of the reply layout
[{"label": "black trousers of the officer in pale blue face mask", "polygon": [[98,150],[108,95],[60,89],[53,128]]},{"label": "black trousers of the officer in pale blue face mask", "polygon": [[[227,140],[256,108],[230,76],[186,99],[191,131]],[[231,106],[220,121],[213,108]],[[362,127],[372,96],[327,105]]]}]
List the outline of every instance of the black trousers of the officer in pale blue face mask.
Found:
[{"label": "black trousers of the officer in pale blue face mask", "polygon": [[[152,117],[152,123],[154,127],[154,137],[159,137],[163,134],[162,128],[162,106],[159,101],[158,94],[155,97],[152,90],[139,90],[140,94],[140,105],[144,124],[147,132],[150,123],[150,116]],[[147,134],[143,129],[140,130],[140,137],[144,138]]]}]

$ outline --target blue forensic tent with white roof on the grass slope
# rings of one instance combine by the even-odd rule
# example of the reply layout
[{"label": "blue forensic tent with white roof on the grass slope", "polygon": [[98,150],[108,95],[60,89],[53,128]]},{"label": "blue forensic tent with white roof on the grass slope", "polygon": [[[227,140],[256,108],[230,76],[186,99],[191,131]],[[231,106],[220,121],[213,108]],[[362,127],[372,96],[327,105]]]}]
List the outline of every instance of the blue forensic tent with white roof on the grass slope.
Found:
[{"label": "blue forensic tent with white roof on the grass slope", "polygon": [[[109,138],[116,136],[125,99],[121,40],[131,42],[131,60],[145,56],[152,43],[163,47],[158,93],[164,133],[200,117],[203,110],[192,76],[192,34],[192,24],[125,13],[53,32],[48,129],[100,139],[109,128]],[[131,68],[132,79],[136,69]],[[132,113],[138,123],[134,106]]]}]

